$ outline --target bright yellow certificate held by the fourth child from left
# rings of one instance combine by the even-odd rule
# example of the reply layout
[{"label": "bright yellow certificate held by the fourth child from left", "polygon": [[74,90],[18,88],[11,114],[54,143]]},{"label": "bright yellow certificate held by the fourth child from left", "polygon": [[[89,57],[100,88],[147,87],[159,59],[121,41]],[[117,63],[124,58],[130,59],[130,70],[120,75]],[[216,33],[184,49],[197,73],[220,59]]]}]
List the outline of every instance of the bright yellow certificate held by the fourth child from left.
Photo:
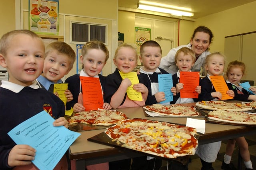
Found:
[{"label": "bright yellow certificate held by the fourth child from left", "polygon": [[141,94],[141,92],[136,92],[136,90],[133,90],[133,88],[132,88],[134,84],[140,83],[139,79],[138,79],[138,76],[137,76],[137,73],[136,72],[129,72],[128,74],[124,74],[124,73],[122,73],[120,71],[119,71],[119,73],[120,73],[120,75],[122,77],[122,80],[124,80],[125,78],[128,78],[132,82],[132,85],[129,86],[127,88],[127,90],[126,90],[128,98],[130,100],[142,101],[142,94]]}]

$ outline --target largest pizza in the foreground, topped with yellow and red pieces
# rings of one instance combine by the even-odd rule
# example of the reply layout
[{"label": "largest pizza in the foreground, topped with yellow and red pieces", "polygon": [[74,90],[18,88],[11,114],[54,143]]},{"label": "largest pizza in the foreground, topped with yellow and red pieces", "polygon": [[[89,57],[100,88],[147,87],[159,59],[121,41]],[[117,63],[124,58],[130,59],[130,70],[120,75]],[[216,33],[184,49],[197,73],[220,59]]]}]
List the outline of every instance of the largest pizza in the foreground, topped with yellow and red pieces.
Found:
[{"label": "largest pizza in the foreground, topped with yellow and red pieces", "polygon": [[195,154],[196,129],[147,119],[126,119],[105,131],[122,147],[166,158]]}]

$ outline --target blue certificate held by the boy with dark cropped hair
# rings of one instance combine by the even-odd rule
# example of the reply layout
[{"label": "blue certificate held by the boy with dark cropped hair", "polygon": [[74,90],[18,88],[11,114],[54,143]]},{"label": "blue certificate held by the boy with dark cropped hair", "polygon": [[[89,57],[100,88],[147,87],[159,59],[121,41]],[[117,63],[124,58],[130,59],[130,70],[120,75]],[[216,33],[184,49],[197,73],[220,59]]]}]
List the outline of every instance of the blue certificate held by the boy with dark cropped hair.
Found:
[{"label": "blue certificate held by the boy with dark cropped hair", "polygon": [[172,74],[158,74],[158,84],[159,84],[159,92],[164,92],[166,100],[160,102],[172,102],[173,94],[171,92],[171,88],[173,87],[172,83]]}]

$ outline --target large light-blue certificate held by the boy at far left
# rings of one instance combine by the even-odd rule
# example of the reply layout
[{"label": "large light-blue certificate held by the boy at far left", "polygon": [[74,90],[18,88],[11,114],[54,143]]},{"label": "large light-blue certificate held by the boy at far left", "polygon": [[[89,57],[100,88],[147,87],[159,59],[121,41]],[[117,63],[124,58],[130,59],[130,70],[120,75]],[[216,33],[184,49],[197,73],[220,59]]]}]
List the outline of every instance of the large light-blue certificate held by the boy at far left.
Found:
[{"label": "large light-blue certificate held by the boy at far left", "polygon": [[8,135],[17,145],[30,145],[36,149],[32,162],[40,170],[52,170],[80,133],[64,126],[54,127],[54,119],[41,111],[14,127]]}]

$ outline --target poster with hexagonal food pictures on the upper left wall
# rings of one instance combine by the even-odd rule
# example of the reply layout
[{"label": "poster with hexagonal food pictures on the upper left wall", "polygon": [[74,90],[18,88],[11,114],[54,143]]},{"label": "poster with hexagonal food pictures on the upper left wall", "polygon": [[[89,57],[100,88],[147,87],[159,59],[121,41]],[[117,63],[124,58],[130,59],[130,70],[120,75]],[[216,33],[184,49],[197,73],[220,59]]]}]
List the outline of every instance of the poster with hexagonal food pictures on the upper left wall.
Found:
[{"label": "poster with hexagonal food pictures on the upper left wall", "polygon": [[59,0],[29,0],[28,27],[39,34],[58,35]]}]

